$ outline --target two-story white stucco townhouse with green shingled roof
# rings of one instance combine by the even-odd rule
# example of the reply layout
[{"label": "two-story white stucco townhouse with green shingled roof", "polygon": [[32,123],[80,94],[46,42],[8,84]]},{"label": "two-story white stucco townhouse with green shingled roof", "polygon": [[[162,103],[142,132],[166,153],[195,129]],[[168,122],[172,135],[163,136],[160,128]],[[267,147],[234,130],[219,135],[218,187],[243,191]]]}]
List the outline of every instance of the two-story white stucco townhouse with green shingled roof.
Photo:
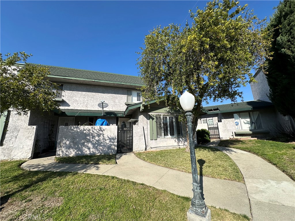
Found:
[{"label": "two-story white stucco townhouse with green shingled roof", "polygon": [[[1,159],[31,158],[34,146],[40,146],[43,152],[57,148],[59,156],[73,156],[108,145],[112,151],[98,153],[114,153],[114,146],[117,152],[130,152],[186,145],[186,130],[178,121],[180,111],[166,107],[164,102],[151,101],[148,107],[141,96],[140,77],[47,67],[48,79],[60,85],[55,98],[60,111],[52,110],[46,116],[37,110],[27,116],[9,111],[4,126],[7,132],[3,130],[1,136]],[[98,106],[101,101],[108,104],[104,110]],[[104,126],[100,128],[106,131],[98,131],[99,127],[92,126],[97,119],[106,119],[109,128],[115,126],[116,131]],[[64,153],[67,148],[71,153]]]}]

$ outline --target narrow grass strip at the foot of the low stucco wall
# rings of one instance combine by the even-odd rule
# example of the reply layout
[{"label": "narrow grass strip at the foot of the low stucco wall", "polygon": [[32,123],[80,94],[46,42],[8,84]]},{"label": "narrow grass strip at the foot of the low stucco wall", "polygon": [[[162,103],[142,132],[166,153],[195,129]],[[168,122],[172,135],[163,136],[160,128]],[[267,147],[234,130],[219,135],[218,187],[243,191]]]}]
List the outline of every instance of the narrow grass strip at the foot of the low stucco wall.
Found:
[{"label": "narrow grass strip at the foot of the low stucco wall", "polygon": [[116,154],[55,157],[55,162],[63,164],[117,164]]}]

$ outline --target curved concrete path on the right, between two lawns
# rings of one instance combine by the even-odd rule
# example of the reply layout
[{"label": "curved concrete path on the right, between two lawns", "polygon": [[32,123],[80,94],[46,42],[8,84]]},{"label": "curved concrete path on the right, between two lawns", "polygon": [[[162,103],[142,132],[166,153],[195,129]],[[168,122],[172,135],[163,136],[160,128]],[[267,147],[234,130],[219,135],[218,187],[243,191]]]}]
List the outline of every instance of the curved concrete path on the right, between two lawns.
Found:
[{"label": "curved concrete path on the right, between two lawns", "polygon": [[286,174],[246,151],[207,146],[223,151],[239,167],[247,187],[253,221],[295,220],[295,183]]}]

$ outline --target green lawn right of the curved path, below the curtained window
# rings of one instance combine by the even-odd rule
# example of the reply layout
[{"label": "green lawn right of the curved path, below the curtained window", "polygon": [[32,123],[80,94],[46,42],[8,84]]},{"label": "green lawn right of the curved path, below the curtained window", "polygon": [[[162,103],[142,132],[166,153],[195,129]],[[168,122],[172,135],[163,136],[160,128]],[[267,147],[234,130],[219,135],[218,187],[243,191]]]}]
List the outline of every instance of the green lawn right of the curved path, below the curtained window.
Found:
[{"label": "green lawn right of the curved path, below the curtained window", "polygon": [[218,146],[232,147],[253,153],[295,180],[295,145],[266,140],[222,140]]}]

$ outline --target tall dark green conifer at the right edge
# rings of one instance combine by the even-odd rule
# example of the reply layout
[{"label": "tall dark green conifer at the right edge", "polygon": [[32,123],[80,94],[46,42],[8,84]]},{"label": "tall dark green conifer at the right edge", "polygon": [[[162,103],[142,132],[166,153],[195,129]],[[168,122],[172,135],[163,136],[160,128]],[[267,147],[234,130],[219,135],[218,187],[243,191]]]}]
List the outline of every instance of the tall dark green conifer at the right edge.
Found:
[{"label": "tall dark green conifer at the right edge", "polygon": [[295,119],[295,1],[283,1],[267,25],[271,38],[266,59],[269,99],[284,116]]}]

